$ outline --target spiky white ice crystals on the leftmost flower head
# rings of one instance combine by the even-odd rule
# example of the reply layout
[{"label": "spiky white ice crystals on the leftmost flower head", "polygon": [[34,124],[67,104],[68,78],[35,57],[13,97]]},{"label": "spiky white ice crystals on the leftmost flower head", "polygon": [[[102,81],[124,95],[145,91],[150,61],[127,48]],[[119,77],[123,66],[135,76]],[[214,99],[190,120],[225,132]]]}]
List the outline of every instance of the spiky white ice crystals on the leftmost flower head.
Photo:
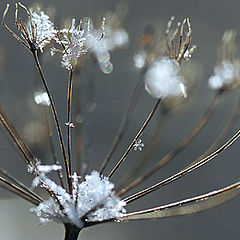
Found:
[{"label": "spiky white ice crystals on the leftmost flower head", "polygon": [[56,34],[54,24],[49,20],[49,16],[43,11],[40,13],[31,12],[31,18],[27,23],[27,31],[31,42],[37,44],[38,48],[43,48],[53,39]]}]

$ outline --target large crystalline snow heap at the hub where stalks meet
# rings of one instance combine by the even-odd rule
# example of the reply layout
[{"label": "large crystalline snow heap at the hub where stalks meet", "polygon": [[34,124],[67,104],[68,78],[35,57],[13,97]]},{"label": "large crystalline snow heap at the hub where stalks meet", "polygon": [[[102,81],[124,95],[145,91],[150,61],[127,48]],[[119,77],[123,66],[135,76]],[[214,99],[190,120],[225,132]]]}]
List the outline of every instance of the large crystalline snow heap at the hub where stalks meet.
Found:
[{"label": "large crystalline snow heap at the hub where stalks meet", "polygon": [[[59,166],[58,166],[59,167]],[[79,183],[79,176],[74,173],[72,195],[46,176],[49,170],[59,170],[56,165],[37,166],[38,175],[33,180],[34,187],[41,185],[50,190],[54,198],[43,201],[30,211],[40,218],[41,223],[57,221],[73,223],[83,227],[82,218],[86,221],[102,221],[121,216],[125,213],[125,202],[115,196],[114,184],[96,171]]]}]

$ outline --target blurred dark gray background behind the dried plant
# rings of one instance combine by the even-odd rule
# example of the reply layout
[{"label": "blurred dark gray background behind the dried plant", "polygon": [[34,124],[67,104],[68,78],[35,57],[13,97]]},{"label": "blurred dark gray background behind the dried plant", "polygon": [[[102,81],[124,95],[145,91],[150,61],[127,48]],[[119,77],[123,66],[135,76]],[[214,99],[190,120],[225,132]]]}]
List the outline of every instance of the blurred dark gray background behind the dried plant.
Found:
[{"label": "blurred dark gray background behind the dried plant", "polygon": [[[14,22],[14,2],[0,1],[0,11],[3,12],[6,3],[10,3],[11,9],[6,21],[10,27]],[[35,2],[22,1],[29,6]],[[38,3],[38,2],[36,2]],[[81,18],[84,16],[101,16],[106,11],[115,11],[119,1],[111,0],[48,0],[39,1],[43,9],[51,8],[55,11],[57,26],[61,26],[68,17]],[[184,17],[190,17],[193,29],[193,44],[197,50],[192,61],[198,65],[199,82],[194,89],[195,95],[188,105],[164,127],[164,138],[159,146],[159,153],[153,162],[170,151],[190,131],[194,123],[199,119],[213,98],[213,92],[207,87],[207,80],[213,72],[216,64],[216,50],[222,34],[227,29],[239,31],[240,26],[240,2],[238,0],[129,0],[128,14],[122,23],[128,31],[130,42],[124,49],[111,53],[114,70],[110,75],[104,75],[91,60],[86,61],[85,69],[81,75],[82,101],[85,106],[83,115],[84,125],[84,157],[89,162],[89,171],[98,169],[104,156],[117,132],[121,118],[126,111],[131,93],[139,76],[139,70],[134,67],[132,57],[137,49],[138,38],[143,29],[149,24],[161,23],[163,28],[169,17],[174,15],[178,21]],[[239,38],[238,38],[239,41]],[[240,41],[239,41],[240,43]],[[2,26],[0,28],[0,99],[1,104],[13,120],[17,129],[27,139],[26,129],[35,129],[36,123],[41,121],[36,105],[33,103],[35,91],[35,77],[33,60],[30,54],[23,48]],[[66,87],[67,72],[56,62],[43,59],[43,68],[49,81],[49,87],[55,98],[59,111],[62,127],[64,128],[66,111]],[[84,100],[88,99],[88,82],[94,78],[94,98],[96,103],[94,112],[87,111]],[[110,99],[110,100],[109,100]],[[130,139],[139,129],[147,114],[151,111],[154,99],[145,92],[142,93],[140,102],[134,112],[118,151],[112,158],[117,161],[121,153],[129,144]],[[189,148],[181,153],[174,161],[166,166],[143,186],[162,180],[185,167],[195,160],[218,136],[236,104],[236,95],[229,94],[224,98],[216,114],[202,131],[200,136],[190,144]],[[156,117],[158,118],[158,117]],[[155,122],[156,122],[155,118]],[[239,124],[239,122],[238,122]],[[238,128],[238,124],[236,129]],[[153,124],[154,125],[154,124]],[[25,130],[24,130],[25,129]],[[143,136],[143,141],[148,136],[148,128]],[[236,130],[235,129],[235,130]],[[42,161],[48,163],[49,151],[41,139],[39,131],[30,131],[34,141],[32,148]],[[41,132],[41,131],[40,131]],[[43,136],[44,137],[44,136]],[[29,140],[30,141],[30,140]],[[1,131],[0,136],[1,166],[21,179],[27,185],[31,184],[32,176],[26,172],[26,167],[21,156]],[[140,153],[132,153],[122,170],[113,178],[118,182],[121,176]],[[136,155],[136,156],[135,156]],[[59,155],[60,156],[60,155]],[[220,187],[227,186],[239,179],[239,143],[235,143],[229,150],[216,160],[201,169],[183,177],[179,181],[166,186],[149,196],[132,203],[128,210],[140,210],[154,207],[164,203],[170,203],[187,197],[205,193]],[[110,167],[108,171],[110,170]],[[142,189],[141,186],[139,189]],[[31,207],[29,203],[15,198],[6,191],[0,191],[0,234],[4,240],[26,239],[63,239],[63,228],[55,223],[39,226],[35,216],[28,213]],[[239,197],[214,209],[207,210],[196,215],[177,217],[161,220],[139,221],[121,224],[106,224],[86,229],[81,239],[238,239],[239,230]]]}]

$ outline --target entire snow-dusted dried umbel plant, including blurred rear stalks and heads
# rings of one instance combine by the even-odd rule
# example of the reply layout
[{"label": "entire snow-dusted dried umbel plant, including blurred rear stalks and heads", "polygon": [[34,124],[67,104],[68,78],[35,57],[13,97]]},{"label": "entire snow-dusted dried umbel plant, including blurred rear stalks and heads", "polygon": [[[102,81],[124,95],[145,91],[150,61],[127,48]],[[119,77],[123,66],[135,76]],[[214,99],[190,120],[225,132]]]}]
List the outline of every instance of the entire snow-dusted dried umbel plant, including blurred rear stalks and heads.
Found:
[{"label": "entire snow-dusted dried umbel plant, including blurred rear stalks and heads", "polygon": [[[75,127],[72,121],[74,73],[82,67],[79,66],[79,61],[81,61],[84,56],[91,55],[98,63],[102,72],[110,74],[113,70],[113,65],[110,61],[110,50],[126,44],[128,35],[122,28],[119,28],[119,24],[115,24],[117,26],[117,33],[114,32],[114,27],[108,26],[105,23],[105,18],[103,18],[102,25],[99,29],[94,28],[90,18],[83,18],[79,21],[78,25],[76,24],[76,20],[72,19],[70,28],[59,30],[54,27],[54,24],[43,11],[34,12],[21,3],[17,3],[15,24],[19,32],[18,35],[12,31],[5,22],[8,8],[9,5],[7,5],[4,11],[2,24],[6,30],[32,54],[41,79],[43,90],[37,91],[34,97],[36,103],[41,106],[45,114],[44,121],[54,162],[52,165],[44,165],[44,160],[38,159],[33,154],[29,146],[25,143],[25,140],[12,124],[3,107],[0,106],[1,124],[26,161],[28,172],[34,176],[32,187],[29,188],[6,170],[0,168],[0,186],[32,203],[34,207],[31,208],[30,211],[39,217],[41,223],[49,221],[62,223],[65,226],[65,240],[74,240],[78,238],[83,228],[93,225],[107,222],[120,223],[129,220],[193,214],[222,204],[240,193],[240,182],[236,182],[219,190],[214,190],[196,197],[190,197],[145,210],[127,212],[129,203],[189,174],[213,160],[217,155],[230,147],[240,136],[240,131],[237,131],[233,137],[226,141],[226,136],[233,129],[239,116],[239,108],[237,108],[219,138],[216,139],[216,142],[211,145],[203,155],[193,161],[192,164],[167,179],[159,181],[132,195],[128,195],[123,199],[120,198],[128,194],[130,190],[135,189],[135,187],[149,177],[152,177],[154,173],[159,171],[185,149],[205,127],[214,114],[222,96],[237,88],[240,80],[240,65],[235,54],[237,51],[235,32],[228,31],[223,36],[219,50],[218,66],[214,69],[214,75],[209,79],[209,86],[214,89],[215,97],[207,111],[175,149],[166,154],[147,173],[142,174],[143,169],[153,157],[153,153],[156,152],[159,144],[159,134],[153,134],[148,143],[143,143],[141,136],[151,123],[161,103],[165,106],[163,119],[169,117],[169,113],[176,108],[176,106],[185,104],[185,98],[187,98],[187,93],[190,89],[188,89],[180,70],[182,64],[190,60],[196,48],[196,46],[191,46],[192,28],[189,18],[185,18],[181,23],[178,23],[175,29],[172,27],[174,17],[169,20],[165,31],[165,40],[162,40],[162,42],[165,43],[165,49],[157,49],[158,46],[162,46],[163,44],[157,45],[158,41],[156,41],[156,39],[158,38],[154,37],[151,31],[145,31],[141,37],[141,49],[139,51],[142,55],[138,55],[138,58],[135,56],[134,58],[137,67],[142,68],[142,72],[126,115],[99,171],[89,166],[93,171],[91,170],[92,172],[86,173],[82,166],[82,159],[78,159],[78,167],[75,171],[73,170],[74,167],[72,164],[72,130]],[[27,15],[26,22],[23,21],[22,18],[19,18],[19,8],[25,11]],[[121,31],[119,29],[121,29]],[[66,139],[63,137],[61,120],[58,118],[54,99],[39,61],[39,57],[45,51],[46,46],[51,46],[52,55],[60,54],[62,67],[66,68],[69,73],[67,121],[65,123],[67,129]],[[159,55],[159,52],[162,52],[163,55]],[[166,53],[164,54],[164,52]],[[139,64],[139,57],[141,58],[141,64]],[[135,108],[143,84],[145,85],[146,91],[152,97],[156,98],[156,103],[119,160],[112,160],[112,155],[122,135],[126,132],[127,124]],[[52,124],[48,116],[48,107],[52,112],[62,159],[57,159],[54,153],[54,142],[51,136]],[[155,131],[159,132],[163,124],[164,122],[161,121]],[[78,134],[77,137],[81,138],[81,129],[75,129],[75,131],[78,130],[79,133],[76,133]],[[122,164],[128,161],[129,153],[132,150],[142,151],[143,148],[144,151],[140,158],[136,160],[132,169],[130,169],[130,171],[125,174],[124,179],[119,181],[118,185],[115,186],[111,182],[112,176],[116,175]],[[78,150],[81,151],[81,149]],[[80,158],[80,154],[77,157]],[[107,172],[110,161],[114,162],[115,165]],[[52,172],[57,173],[57,182],[50,178]],[[49,197],[48,199],[43,199],[43,197],[34,192],[34,188],[38,186],[46,191]]]}]

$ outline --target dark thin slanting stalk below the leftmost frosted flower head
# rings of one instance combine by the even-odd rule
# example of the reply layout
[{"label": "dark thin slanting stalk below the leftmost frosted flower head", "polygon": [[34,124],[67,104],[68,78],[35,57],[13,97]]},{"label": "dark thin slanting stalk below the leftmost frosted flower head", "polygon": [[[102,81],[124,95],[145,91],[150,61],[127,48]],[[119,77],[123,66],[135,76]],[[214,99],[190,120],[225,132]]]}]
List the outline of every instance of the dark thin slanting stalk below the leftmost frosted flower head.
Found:
[{"label": "dark thin slanting stalk below the leftmost frosted flower head", "polygon": [[68,188],[69,188],[69,191],[70,191],[70,189],[72,189],[72,181],[71,181],[71,177],[70,177],[71,172],[70,172],[69,163],[68,163],[67,157],[66,157],[66,150],[65,150],[65,147],[64,147],[62,130],[61,130],[60,123],[59,123],[59,120],[58,120],[57,111],[56,111],[56,108],[55,108],[55,104],[54,104],[52,95],[51,95],[50,90],[48,88],[47,81],[46,81],[46,79],[43,75],[43,71],[42,71],[41,65],[39,63],[38,56],[37,56],[37,51],[33,52],[33,57],[34,57],[34,61],[36,63],[36,67],[38,69],[38,72],[40,74],[41,81],[44,85],[44,88],[47,92],[47,95],[48,95],[48,98],[49,98],[49,101],[50,101],[50,106],[51,106],[51,109],[52,109],[56,129],[57,129],[57,133],[58,133],[58,138],[59,138],[59,142],[60,142],[60,147],[61,147],[61,151],[62,151],[62,155],[63,155],[64,166],[65,166],[65,170],[66,170],[66,174],[67,174]]}]

